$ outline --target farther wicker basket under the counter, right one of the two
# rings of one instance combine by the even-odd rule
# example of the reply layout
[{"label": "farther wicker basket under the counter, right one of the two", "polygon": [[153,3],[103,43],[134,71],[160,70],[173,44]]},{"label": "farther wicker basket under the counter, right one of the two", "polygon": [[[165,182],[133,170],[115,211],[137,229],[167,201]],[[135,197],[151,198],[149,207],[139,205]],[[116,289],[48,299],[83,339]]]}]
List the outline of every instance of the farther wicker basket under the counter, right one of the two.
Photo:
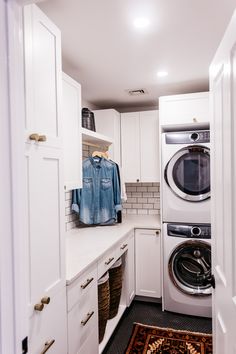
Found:
[{"label": "farther wicker basket under the counter, right one of the two", "polygon": [[110,310],[109,319],[117,315],[122,291],[122,261],[119,258],[109,269]]}]

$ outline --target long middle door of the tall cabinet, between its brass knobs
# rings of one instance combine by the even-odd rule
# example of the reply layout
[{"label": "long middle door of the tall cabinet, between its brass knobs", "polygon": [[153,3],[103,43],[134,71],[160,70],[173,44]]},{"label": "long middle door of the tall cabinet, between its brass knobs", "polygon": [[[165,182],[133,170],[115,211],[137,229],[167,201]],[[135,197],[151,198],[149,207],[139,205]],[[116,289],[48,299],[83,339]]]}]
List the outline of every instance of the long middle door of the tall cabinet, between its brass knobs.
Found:
[{"label": "long middle door of the tall cabinet, between its brass knobs", "polygon": [[65,285],[61,152],[28,147],[29,304]]}]

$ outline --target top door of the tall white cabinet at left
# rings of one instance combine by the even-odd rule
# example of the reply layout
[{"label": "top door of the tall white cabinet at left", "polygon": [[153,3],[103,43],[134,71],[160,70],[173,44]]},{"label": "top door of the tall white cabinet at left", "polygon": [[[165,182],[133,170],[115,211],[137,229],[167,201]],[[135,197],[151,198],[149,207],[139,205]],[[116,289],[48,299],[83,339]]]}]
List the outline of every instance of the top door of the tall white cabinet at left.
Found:
[{"label": "top door of the tall white cabinet at left", "polygon": [[61,146],[61,34],[35,5],[24,8],[26,141],[45,135]]}]

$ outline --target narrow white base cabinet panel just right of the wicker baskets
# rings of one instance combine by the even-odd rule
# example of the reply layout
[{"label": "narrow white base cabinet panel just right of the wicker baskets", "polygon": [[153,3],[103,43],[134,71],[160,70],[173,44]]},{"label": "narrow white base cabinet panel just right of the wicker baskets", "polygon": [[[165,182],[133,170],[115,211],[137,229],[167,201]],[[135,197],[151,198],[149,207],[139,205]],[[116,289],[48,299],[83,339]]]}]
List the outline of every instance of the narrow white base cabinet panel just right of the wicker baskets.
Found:
[{"label": "narrow white base cabinet panel just right of the wicker baskets", "polygon": [[128,284],[127,284],[127,306],[129,306],[135,296],[135,268],[134,268],[134,232],[132,231],[128,239],[127,263]]}]

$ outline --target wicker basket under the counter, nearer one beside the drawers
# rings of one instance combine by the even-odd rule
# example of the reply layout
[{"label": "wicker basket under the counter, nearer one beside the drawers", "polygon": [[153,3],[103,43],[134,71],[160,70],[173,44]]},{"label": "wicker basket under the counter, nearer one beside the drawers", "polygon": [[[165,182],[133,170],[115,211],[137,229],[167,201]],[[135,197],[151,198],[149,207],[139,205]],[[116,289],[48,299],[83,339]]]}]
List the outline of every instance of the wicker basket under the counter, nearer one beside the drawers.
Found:
[{"label": "wicker basket under the counter, nearer one beside the drawers", "polygon": [[98,327],[99,327],[99,343],[103,340],[107,320],[109,318],[109,274],[106,273],[98,280]]}]

